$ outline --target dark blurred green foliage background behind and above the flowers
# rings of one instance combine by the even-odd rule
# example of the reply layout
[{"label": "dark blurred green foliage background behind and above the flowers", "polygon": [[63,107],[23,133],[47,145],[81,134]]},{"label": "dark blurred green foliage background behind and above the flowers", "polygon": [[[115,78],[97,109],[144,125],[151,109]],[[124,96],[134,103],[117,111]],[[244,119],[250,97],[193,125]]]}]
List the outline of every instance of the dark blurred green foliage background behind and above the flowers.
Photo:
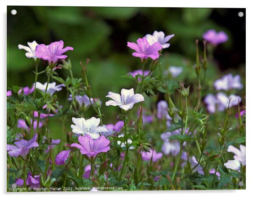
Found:
[{"label": "dark blurred green foliage background behind and above the flowers", "polygon": [[[11,15],[11,9],[17,14]],[[238,12],[244,13],[243,17]],[[243,8],[118,8],[118,7],[7,7],[7,85],[31,86],[34,80],[34,60],[25,56],[18,44],[36,40],[48,45],[63,40],[68,51],[75,77],[81,76],[79,62],[91,59],[88,79],[94,97],[102,100],[102,112],[106,120],[114,122],[114,107],[105,107],[108,91],[120,92],[121,88],[132,88],[130,79],[122,78],[129,71],[141,68],[140,59],[132,57],[127,41],[135,42],[138,37],[153,34],[154,30],[165,35],[175,34],[171,46],[164,50],[162,65],[182,66],[184,72],[178,79],[186,83],[195,77],[195,40],[199,39],[202,49],[202,34],[208,29],[225,31],[228,42],[214,51],[214,62],[208,72],[208,92],[212,83],[229,71],[240,74],[245,82],[245,9]],[[40,62],[39,71],[45,68]],[[65,70],[58,70],[65,79]],[[39,81],[46,82],[40,75]],[[65,98],[65,89],[57,93]],[[160,99],[161,96],[159,96]],[[93,115],[93,112],[91,112]],[[116,113],[115,113],[116,115]]]}]

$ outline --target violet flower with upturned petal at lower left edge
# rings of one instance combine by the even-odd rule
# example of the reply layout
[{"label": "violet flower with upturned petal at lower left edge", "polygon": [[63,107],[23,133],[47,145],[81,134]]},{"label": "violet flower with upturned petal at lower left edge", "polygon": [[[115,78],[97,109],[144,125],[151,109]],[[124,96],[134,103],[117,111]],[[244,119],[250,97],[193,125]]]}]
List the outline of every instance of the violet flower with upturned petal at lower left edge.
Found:
[{"label": "violet flower with upturned petal at lower left edge", "polygon": [[16,146],[7,144],[7,151],[9,153],[9,156],[11,157],[22,156],[23,158],[25,158],[31,148],[38,147],[37,133],[29,141],[22,139],[20,141],[15,141],[14,144]]}]

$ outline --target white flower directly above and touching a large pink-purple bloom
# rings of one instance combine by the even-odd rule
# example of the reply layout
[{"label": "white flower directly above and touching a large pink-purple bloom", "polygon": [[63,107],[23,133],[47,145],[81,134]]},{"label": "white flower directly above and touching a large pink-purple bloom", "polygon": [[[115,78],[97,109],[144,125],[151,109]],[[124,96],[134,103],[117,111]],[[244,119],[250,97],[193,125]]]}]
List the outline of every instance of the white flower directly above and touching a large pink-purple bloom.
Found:
[{"label": "white flower directly above and touching a large pink-purple bloom", "polygon": [[71,129],[73,133],[91,136],[92,139],[98,139],[100,137],[100,132],[108,132],[105,127],[100,126],[100,119],[91,117],[85,120],[84,118],[72,118],[74,124],[71,124]]}]

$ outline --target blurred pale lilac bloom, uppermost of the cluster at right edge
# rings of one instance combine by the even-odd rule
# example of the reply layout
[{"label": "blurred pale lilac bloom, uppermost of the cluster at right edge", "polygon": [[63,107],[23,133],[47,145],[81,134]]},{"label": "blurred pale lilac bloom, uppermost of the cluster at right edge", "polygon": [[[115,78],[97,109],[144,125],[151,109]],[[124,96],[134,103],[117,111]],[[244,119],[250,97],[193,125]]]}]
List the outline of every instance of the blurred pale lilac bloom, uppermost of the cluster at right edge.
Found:
[{"label": "blurred pale lilac bloom, uppermost of the cluster at right edge", "polygon": [[240,82],[241,78],[239,75],[233,77],[232,74],[227,74],[222,76],[222,78],[217,79],[214,82],[214,87],[216,90],[230,90],[230,89],[242,89],[243,85]]}]

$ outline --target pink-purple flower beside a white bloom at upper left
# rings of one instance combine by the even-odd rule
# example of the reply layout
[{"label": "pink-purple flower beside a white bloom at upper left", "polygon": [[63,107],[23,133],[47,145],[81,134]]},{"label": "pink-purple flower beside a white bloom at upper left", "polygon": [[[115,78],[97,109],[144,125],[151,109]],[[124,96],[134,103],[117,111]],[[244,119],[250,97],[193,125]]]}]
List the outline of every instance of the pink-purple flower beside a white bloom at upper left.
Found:
[{"label": "pink-purple flower beside a white bloom at upper left", "polygon": [[74,50],[72,47],[65,47],[62,40],[52,42],[50,45],[40,44],[36,46],[35,55],[43,60],[48,60],[49,65],[55,64],[59,59],[65,59],[68,56],[63,55],[68,50]]}]

